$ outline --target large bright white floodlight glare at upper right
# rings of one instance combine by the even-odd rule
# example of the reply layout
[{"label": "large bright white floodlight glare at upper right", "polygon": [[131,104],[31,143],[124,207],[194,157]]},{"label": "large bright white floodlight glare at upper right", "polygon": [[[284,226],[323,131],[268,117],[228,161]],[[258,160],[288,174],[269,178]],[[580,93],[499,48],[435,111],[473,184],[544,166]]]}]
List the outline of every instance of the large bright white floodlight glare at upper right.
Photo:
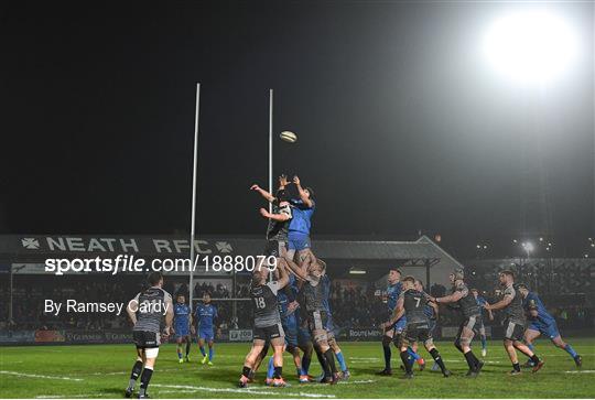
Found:
[{"label": "large bright white floodlight glare at upper right", "polygon": [[483,51],[499,73],[520,82],[545,83],[576,57],[574,32],[544,11],[524,11],[496,20],[486,32]]}]

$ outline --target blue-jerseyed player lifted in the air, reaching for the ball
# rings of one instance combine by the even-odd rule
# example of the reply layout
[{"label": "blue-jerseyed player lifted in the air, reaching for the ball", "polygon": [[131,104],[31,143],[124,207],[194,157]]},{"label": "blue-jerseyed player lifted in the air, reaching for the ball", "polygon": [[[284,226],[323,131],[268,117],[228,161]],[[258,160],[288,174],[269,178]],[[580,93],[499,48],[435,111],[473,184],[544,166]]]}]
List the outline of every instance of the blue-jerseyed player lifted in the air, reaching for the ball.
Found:
[{"label": "blue-jerseyed player lifted in the air, reaching for the ball", "polygon": [[290,201],[293,217],[289,225],[288,258],[293,260],[295,253],[298,253],[298,263],[307,269],[304,262],[307,261],[306,255],[311,251],[310,228],[316,204],[313,199],[314,192],[311,187],[302,187],[299,176],[293,176],[293,183],[298,188],[300,198]]}]

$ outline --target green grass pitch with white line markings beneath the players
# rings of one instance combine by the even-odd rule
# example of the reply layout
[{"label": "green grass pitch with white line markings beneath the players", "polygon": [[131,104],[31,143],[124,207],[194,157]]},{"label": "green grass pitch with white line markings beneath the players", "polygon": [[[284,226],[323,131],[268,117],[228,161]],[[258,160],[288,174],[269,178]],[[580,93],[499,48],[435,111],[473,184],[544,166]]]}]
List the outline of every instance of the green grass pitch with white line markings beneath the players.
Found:
[{"label": "green grass pitch with white line markings beneath the players", "polygon": [[[538,374],[524,371],[509,377],[509,360],[500,342],[490,342],[484,371],[477,379],[464,377],[466,364],[451,343],[439,343],[446,366],[454,372],[443,378],[429,369],[401,380],[398,355],[393,352],[396,376],[378,377],[382,352],[378,343],[345,343],[343,353],[351,379],[337,386],[299,385],[290,357],[285,378],[290,388],[268,388],[253,383],[248,390],[236,387],[248,344],[220,344],[215,365],[198,364],[193,346],[190,364],[177,364],[174,345],[161,347],[149,393],[154,398],[588,398],[595,394],[595,338],[570,339],[583,355],[580,372],[570,356],[541,340],[538,354],[545,366]],[[429,357],[422,350],[424,357]],[[120,398],[134,361],[132,345],[40,346],[0,348],[0,397],[2,398]],[[523,359],[524,361],[524,359]],[[320,367],[313,361],[313,374]],[[61,379],[69,378],[72,380]],[[263,378],[263,370],[258,375]],[[304,396],[305,394],[305,396]]]}]

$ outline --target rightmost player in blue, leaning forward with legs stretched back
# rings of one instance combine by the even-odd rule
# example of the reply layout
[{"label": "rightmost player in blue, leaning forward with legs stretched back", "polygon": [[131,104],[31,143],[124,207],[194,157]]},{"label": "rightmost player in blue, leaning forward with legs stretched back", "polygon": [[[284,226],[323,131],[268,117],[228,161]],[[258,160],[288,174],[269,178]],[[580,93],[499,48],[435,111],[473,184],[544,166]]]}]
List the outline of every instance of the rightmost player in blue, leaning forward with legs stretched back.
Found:
[{"label": "rightmost player in blue, leaning forward with legs stretched back", "polygon": [[[524,343],[529,348],[533,349],[533,342],[541,335],[548,336],[548,338],[559,348],[563,349],[574,359],[574,364],[577,367],[583,365],[583,359],[576,354],[574,348],[569,343],[562,340],[562,336],[558,331],[554,317],[548,312],[545,305],[536,292],[530,292],[529,288],[524,284],[518,285],[522,296],[522,307],[527,313],[528,327],[524,331]],[[531,360],[527,361],[523,367],[532,367]]]}]

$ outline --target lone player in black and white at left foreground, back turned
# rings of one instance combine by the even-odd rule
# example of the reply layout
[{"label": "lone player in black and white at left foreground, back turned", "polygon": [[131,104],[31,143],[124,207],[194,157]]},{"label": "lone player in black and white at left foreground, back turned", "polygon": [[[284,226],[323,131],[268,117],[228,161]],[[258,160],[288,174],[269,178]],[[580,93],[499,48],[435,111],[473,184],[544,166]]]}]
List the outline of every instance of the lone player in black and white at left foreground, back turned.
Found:
[{"label": "lone player in black and white at left foreground, back turned", "polygon": [[139,399],[149,397],[147,388],[159,355],[161,322],[165,317],[163,337],[166,338],[170,335],[174,316],[172,296],[162,289],[163,275],[160,272],[152,272],[148,280],[150,288],[137,294],[127,306],[128,315],[134,324],[132,338],[137,345],[137,363],[132,367],[126,397],[132,396],[137,379],[140,376]]}]

